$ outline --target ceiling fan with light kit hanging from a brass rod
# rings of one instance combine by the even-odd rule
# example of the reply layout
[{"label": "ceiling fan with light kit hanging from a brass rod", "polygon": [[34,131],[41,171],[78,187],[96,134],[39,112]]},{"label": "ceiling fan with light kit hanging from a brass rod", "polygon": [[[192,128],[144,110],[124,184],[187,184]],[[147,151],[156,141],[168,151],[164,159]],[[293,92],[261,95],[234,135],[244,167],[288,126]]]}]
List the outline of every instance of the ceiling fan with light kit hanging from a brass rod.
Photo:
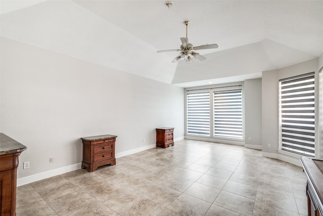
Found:
[{"label": "ceiling fan with light kit hanging from a brass rod", "polygon": [[180,51],[180,54],[172,62],[175,63],[175,62],[178,62],[181,58],[184,58],[187,63],[190,63],[193,61],[191,56],[193,56],[195,59],[198,59],[200,61],[204,61],[206,59],[204,56],[201,56],[198,53],[195,53],[194,52],[195,50],[216,49],[219,47],[217,44],[210,44],[210,45],[206,44],[206,45],[201,45],[197,47],[193,47],[192,44],[189,44],[188,38],[187,38],[187,26],[189,24],[190,24],[190,21],[184,21],[184,25],[186,25],[186,37],[181,37],[182,45],[180,49],[159,50],[157,51],[157,53]]}]

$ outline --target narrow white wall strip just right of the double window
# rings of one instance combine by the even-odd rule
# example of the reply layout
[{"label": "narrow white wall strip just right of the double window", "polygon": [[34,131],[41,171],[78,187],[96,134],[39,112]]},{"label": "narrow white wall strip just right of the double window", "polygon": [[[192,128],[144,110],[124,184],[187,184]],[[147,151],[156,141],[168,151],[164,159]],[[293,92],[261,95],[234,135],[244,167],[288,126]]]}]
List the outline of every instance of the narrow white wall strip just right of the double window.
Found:
[{"label": "narrow white wall strip just right of the double window", "polygon": [[244,80],[244,96],[245,147],[262,149],[261,79]]}]

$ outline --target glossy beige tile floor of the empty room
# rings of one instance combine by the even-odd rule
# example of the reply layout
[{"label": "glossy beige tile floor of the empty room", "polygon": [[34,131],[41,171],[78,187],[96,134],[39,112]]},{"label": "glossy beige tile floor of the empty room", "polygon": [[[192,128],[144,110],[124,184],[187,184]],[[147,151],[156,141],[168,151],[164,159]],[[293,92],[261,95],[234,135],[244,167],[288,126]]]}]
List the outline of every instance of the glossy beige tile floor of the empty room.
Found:
[{"label": "glossy beige tile floor of the empty room", "polygon": [[307,215],[302,167],[182,140],[17,188],[17,215]]}]

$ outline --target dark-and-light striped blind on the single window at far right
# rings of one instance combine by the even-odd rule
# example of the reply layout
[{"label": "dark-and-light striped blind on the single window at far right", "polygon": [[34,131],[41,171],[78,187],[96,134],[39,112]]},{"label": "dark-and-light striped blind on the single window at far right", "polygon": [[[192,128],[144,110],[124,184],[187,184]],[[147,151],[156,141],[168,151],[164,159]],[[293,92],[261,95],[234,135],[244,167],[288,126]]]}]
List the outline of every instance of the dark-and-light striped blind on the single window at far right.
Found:
[{"label": "dark-and-light striped blind on the single window at far right", "polygon": [[314,156],[314,72],[280,80],[282,150]]}]

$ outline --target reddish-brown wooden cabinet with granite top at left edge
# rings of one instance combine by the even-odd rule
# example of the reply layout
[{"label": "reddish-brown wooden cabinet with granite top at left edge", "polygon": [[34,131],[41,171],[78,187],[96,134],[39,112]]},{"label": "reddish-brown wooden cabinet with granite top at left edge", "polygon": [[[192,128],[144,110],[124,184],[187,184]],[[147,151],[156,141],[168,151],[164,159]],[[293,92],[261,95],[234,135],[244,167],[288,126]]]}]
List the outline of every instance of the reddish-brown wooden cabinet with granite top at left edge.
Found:
[{"label": "reddish-brown wooden cabinet with granite top at left edge", "polygon": [[27,147],[0,133],[0,215],[16,215],[17,167]]}]

